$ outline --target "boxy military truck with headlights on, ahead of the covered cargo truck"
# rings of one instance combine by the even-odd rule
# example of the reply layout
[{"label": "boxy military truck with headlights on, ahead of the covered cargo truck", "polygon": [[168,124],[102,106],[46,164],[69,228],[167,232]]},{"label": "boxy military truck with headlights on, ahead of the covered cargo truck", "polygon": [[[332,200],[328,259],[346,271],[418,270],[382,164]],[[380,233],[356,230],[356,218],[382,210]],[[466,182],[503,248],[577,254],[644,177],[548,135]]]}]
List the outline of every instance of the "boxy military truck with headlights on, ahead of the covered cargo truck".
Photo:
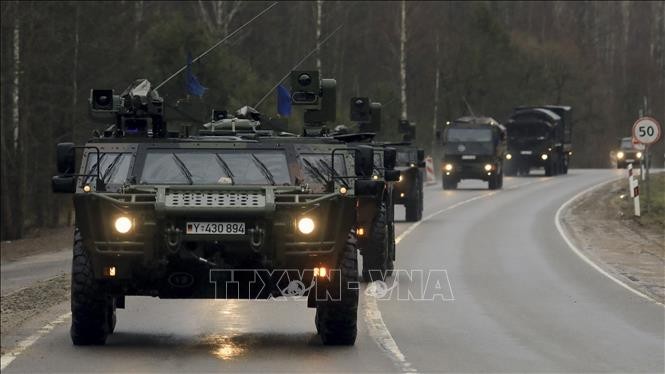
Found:
[{"label": "boxy military truck with headlights on, ahead of the covered cargo truck", "polygon": [[490,190],[503,187],[506,129],[491,117],[467,116],[443,130],[441,174],[444,190],[457,189],[462,179],[488,182]]}]

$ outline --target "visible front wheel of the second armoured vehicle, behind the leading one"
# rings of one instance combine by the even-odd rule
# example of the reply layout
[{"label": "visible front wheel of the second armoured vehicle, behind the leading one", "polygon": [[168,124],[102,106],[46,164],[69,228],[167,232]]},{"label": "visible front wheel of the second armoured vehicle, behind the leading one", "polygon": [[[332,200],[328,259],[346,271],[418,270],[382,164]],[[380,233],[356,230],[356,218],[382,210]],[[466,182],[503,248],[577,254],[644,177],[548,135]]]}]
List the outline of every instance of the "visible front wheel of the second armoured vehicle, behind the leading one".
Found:
[{"label": "visible front wheel of the second armoured vehicle, behind the leading one", "polygon": [[363,249],[363,280],[384,280],[391,266],[391,230],[388,222],[386,202],[381,202],[370,230],[369,248]]}]

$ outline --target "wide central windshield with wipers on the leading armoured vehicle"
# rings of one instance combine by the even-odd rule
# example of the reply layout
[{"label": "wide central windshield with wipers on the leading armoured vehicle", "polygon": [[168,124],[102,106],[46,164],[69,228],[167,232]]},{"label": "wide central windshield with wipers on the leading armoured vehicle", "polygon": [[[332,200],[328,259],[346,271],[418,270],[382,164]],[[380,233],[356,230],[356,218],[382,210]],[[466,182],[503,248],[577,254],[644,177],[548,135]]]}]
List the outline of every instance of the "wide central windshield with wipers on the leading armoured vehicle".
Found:
[{"label": "wide central windshield with wipers on the leading armoured vehicle", "polygon": [[289,185],[284,152],[154,151],[146,155],[142,184]]}]

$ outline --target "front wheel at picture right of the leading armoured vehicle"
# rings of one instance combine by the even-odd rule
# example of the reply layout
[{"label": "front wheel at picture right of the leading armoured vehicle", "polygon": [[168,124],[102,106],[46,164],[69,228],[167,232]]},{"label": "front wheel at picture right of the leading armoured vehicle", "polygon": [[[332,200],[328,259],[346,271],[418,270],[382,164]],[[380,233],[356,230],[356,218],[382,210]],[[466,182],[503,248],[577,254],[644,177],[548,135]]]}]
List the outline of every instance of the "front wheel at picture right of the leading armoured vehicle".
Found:
[{"label": "front wheel at picture right of the leading armoured vehicle", "polygon": [[325,345],[353,345],[358,333],[358,288],[349,283],[358,279],[358,255],[356,236],[349,234],[344,251],[341,254],[340,281],[331,279],[331,285],[339,285],[341,290],[332,290],[332,295],[339,295],[336,300],[318,301],[316,305],[316,330]]}]

